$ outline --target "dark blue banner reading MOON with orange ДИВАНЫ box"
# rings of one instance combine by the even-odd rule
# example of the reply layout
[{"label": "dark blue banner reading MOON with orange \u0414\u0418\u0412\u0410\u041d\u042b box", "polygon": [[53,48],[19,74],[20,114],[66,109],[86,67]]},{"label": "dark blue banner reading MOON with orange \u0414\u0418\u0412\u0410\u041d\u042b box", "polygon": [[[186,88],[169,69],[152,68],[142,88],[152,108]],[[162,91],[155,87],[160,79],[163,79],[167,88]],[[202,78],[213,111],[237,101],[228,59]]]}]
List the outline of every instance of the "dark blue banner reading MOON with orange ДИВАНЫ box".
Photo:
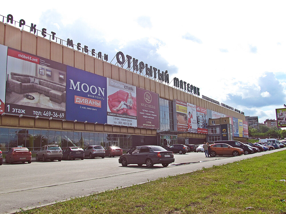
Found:
[{"label": "dark blue banner reading MOON with orange \u0414\u0418\u0412\u0410\u041d\u042b box", "polygon": [[106,77],[67,66],[66,119],[105,124]]}]

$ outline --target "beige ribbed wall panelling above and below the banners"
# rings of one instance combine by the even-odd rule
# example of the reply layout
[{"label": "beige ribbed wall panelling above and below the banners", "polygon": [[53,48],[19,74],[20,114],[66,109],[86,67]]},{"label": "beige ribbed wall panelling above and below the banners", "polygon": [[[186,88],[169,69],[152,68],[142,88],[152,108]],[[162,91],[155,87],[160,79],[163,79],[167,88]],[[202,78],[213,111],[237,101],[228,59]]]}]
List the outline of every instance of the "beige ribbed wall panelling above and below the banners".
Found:
[{"label": "beige ribbed wall panelling above and below the banners", "polygon": [[[159,94],[160,98],[168,100],[182,100],[200,107],[227,114],[228,116],[245,120],[245,116],[242,114],[223,108],[197,96],[182,92],[176,88],[151,80],[147,77],[141,76],[129,70],[125,70],[69,47],[65,47],[64,45],[35,36],[32,33],[20,30],[2,22],[0,22],[0,44],[156,92]],[[68,131],[156,135],[156,130],[144,128],[127,128],[110,125],[104,126],[102,124],[84,124],[48,119],[36,120],[35,118],[19,118],[18,116],[10,115],[0,117],[0,125],[7,127],[43,128]],[[190,138],[206,138],[206,135],[204,134],[184,133],[181,135]]]}]

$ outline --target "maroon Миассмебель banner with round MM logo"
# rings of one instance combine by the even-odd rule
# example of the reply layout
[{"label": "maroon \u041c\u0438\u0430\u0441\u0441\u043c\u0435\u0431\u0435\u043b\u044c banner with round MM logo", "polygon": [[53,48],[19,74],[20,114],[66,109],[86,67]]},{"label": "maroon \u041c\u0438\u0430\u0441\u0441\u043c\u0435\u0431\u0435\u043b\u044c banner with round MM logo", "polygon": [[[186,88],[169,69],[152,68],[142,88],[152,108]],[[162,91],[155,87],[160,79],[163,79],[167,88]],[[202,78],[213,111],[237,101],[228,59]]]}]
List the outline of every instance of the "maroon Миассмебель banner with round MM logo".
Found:
[{"label": "maroon \u041c\u0438\u0430\u0441\u0441\u043c\u0435\u0431\u0435\u043b\u044c banner with round MM logo", "polygon": [[137,127],[160,128],[159,94],[136,88]]}]

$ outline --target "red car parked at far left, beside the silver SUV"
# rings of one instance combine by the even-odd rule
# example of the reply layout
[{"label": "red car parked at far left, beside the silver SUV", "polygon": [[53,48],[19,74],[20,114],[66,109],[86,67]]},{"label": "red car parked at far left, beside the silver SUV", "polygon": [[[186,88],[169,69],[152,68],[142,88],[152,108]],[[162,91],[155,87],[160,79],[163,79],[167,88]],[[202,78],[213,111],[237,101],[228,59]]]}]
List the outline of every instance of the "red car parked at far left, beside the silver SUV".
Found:
[{"label": "red car parked at far left, beside the silver SUV", "polygon": [[21,148],[11,148],[6,155],[5,158],[6,163],[14,163],[14,162],[32,162],[32,153],[26,147]]}]

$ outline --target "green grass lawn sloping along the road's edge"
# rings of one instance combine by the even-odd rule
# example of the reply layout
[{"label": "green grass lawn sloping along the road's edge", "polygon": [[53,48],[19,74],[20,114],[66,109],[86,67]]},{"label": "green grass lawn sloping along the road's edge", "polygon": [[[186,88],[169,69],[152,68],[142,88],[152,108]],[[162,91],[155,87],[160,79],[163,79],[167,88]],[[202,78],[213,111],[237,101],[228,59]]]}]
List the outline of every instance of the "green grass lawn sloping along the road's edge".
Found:
[{"label": "green grass lawn sloping along the road's edge", "polygon": [[285,163],[286,150],[23,213],[286,214]]}]

